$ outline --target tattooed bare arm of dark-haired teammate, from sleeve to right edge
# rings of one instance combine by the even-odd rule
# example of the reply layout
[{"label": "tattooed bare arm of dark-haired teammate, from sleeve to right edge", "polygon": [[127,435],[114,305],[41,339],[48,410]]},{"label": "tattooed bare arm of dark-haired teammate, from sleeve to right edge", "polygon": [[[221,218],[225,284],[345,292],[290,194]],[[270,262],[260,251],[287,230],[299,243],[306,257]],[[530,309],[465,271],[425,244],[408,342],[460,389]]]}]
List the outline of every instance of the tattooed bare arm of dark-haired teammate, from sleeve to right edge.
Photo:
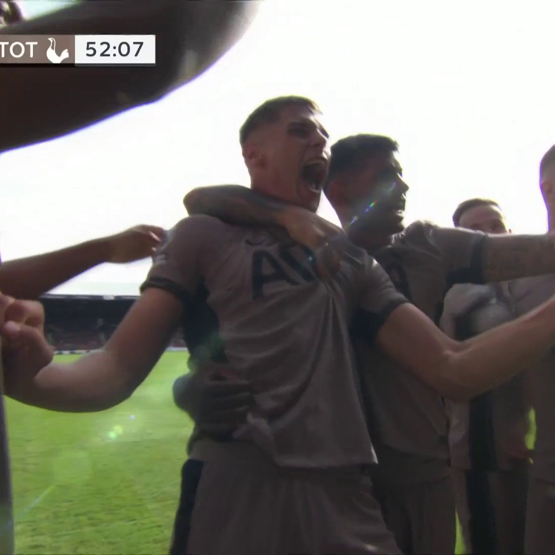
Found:
[{"label": "tattooed bare arm of dark-haired teammate, from sleeve to right edge", "polygon": [[555,241],[546,235],[489,235],[483,250],[483,281],[555,274]]}]

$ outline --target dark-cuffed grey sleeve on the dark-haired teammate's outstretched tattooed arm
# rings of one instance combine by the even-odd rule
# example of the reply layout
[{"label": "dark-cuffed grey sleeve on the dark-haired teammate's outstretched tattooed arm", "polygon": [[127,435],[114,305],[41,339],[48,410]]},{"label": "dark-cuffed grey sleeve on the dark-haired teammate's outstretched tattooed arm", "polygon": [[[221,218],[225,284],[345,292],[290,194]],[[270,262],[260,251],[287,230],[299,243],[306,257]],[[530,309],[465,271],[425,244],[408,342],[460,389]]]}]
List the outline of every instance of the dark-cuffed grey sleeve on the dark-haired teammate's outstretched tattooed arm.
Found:
[{"label": "dark-cuffed grey sleeve on the dark-haired teammate's outstretched tattooed arm", "polygon": [[423,223],[428,241],[438,250],[446,271],[447,285],[483,284],[482,253],[487,237],[481,231],[440,228]]}]

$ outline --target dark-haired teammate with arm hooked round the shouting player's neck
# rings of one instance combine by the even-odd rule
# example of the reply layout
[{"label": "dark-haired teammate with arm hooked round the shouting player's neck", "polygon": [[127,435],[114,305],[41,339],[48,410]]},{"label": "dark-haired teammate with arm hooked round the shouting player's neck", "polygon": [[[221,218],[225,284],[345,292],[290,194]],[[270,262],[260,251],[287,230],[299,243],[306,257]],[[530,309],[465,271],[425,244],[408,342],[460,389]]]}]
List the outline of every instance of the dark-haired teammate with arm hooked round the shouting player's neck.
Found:
[{"label": "dark-haired teammate with arm hooked round the shouting player's neck", "polygon": [[[396,151],[396,142],[380,135],[341,139],[331,149],[326,195],[349,239],[375,256],[397,290],[432,321],[439,321],[443,297],[456,283],[555,272],[555,241],[549,234],[484,235],[421,221],[405,229],[408,186],[401,177]],[[185,204],[189,213],[209,214],[239,225],[280,225],[316,256],[337,243],[331,236],[334,231],[330,234],[326,229],[329,224],[308,210],[280,203],[276,195],[264,196],[240,186],[209,187],[192,191]],[[402,314],[402,309],[397,313]],[[398,355],[375,349],[374,344],[360,341],[356,330],[354,334],[379,460],[376,491],[403,553],[444,555],[455,546],[455,499],[442,397],[452,395],[430,380],[427,372],[437,371],[441,363],[422,351],[426,340],[412,335],[408,318],[404,324],[410,338],[398,348],[416,360],[428,361],[422,373],[407,371],[408,365],[400,364]],[[504,329],[492,332],[503,336]],[[487,360],[487,355],[477,359],[486,375]]]}]

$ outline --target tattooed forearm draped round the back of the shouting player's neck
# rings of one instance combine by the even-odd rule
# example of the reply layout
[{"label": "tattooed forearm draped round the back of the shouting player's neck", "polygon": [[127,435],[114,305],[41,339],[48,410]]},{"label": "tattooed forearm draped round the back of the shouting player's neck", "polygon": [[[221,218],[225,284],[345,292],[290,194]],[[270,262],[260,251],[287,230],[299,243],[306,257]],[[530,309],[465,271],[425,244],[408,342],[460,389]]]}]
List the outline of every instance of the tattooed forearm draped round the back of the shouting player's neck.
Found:
[{"label": "tattooed forearm draped round the back of the shouting player's neck", "polygon": [[205,214],[228,224],[282,226],[290,205],[242,185],[193,189],[183,199],[190,215]]}]

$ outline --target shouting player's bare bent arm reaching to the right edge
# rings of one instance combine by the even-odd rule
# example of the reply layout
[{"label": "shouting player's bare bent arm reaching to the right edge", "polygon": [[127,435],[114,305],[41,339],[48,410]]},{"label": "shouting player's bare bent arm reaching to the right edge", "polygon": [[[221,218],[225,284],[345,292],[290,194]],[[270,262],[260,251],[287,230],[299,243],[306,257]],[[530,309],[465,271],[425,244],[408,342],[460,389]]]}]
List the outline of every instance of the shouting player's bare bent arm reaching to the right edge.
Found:
[{"label": "shouting player's bare bent arm reaching to the right edge", "polygon": [[518,320],[454,341],[410,304],[391,312],[376,344],[442,395],[466,401],[511,379],[555,343],[555,299]]}]

